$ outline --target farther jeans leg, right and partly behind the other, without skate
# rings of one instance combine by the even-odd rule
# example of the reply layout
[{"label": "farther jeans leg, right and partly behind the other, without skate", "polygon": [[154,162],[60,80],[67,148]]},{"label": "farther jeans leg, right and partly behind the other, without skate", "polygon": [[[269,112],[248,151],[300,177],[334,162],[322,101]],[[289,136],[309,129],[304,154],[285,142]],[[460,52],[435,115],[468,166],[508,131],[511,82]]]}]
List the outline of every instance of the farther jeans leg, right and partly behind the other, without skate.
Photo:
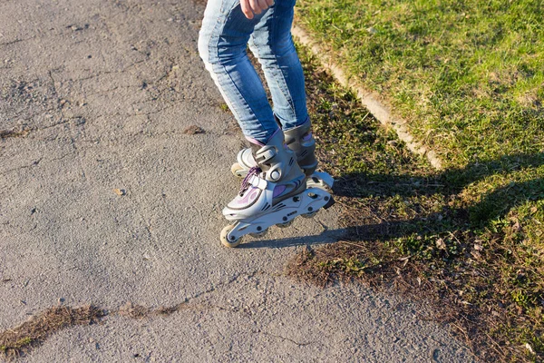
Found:
[{"label": "farther jeans leg, right and partly behind the other, without skate", "polygon": [[295,0],[277,0],[249,40],[263,67],[274,113],[284,131],[308,121],[304,74],[291,37],[294,6]]}]

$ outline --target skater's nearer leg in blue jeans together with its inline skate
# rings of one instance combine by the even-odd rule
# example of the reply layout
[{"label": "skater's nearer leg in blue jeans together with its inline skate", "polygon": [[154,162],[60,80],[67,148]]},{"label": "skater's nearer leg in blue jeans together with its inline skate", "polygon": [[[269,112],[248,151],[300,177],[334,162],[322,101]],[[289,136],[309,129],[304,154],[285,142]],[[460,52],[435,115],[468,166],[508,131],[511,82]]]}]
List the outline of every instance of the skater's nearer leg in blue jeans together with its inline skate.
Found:
[{"label": "skater's nearer leg in blue jeans together with its inline skate", "polygon": [[[248,233],[262,233],[274,224],[285,227],[296,216],[312,216],[333,202],[327,191],[306,189],[306,175],[296,162],[296,153],[287,147],[262,83],[248,60],[249,36],[267,12],[249,20],[238,0],[209,0],[199,34],[199,53],[253,143],[256,163],[248,170],[237,197],[223,210],[231,221],[221,231],[221,241],[228,247],[236,247]],[[277,97],[279,91],[274,92]],[[278,117],[284,117],[279,113]],[[304,122],[291,121],[292,128]]]}]

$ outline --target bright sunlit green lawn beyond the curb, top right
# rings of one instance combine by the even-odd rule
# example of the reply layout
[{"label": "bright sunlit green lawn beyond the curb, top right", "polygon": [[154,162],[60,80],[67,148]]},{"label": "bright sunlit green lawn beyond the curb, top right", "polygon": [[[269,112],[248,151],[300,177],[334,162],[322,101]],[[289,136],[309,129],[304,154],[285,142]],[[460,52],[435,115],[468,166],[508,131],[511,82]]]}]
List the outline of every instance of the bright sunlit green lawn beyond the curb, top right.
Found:
[{"label": "bright sunlit green lawn beyond the curb, top right", "polygon": [[544,152],[542,1],[302,0],[298,18],[446,166]]}]

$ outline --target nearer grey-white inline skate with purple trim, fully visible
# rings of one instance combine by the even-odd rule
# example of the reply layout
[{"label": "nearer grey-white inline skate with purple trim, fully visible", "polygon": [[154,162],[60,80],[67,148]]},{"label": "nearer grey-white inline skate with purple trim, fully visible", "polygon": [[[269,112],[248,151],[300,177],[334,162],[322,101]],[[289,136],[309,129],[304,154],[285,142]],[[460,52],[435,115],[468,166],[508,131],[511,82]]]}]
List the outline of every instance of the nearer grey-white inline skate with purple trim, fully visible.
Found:
[{"label": "nearer grey-white inline skate with purple trim, fully visible", "polygon": [[221,231],[221,242],[236,247],[247,234],[263,235],[268,227],[287,227],[299,215],[313,217],[333,205],[321,188],[307,188],[306,175],[296,163],[296,154],[277,132],[264,146],[253,146],[255,165],[250,167],[238,196],[223,215],[231,222]]}]

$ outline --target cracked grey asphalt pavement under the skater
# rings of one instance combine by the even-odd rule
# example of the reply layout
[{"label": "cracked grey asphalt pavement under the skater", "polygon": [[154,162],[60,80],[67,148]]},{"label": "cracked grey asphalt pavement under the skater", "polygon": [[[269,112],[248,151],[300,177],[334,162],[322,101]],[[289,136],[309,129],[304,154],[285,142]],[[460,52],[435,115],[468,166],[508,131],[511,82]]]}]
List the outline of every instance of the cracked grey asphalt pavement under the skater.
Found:
[{"label": "cracked grey asphalt pavement under the skater", "polygon": [[65,329],[21,360],[473,360],[400,297],[284,276],[296,251],[342,237],[339,206],[220,246],[243,141],[197,53],[203,11],[0,2],[0,329],[59,299],[187,301],[168,317]]}]

